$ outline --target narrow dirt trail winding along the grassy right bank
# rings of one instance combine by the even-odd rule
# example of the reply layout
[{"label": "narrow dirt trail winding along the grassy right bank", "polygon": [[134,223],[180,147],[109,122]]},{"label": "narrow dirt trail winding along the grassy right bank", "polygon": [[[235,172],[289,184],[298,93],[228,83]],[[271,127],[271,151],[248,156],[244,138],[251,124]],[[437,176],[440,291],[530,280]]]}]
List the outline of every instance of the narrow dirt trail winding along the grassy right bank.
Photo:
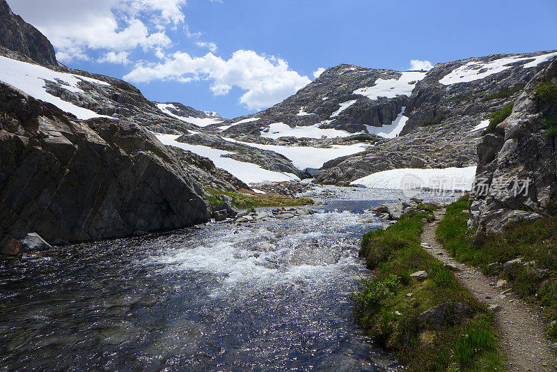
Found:
[{"label": "narrow dirt trail winding along the grassy right bank", "polygon": [[480,302],[499,305],[495,313],[499,346],[507,357],[508,372],[557,371],[557,356],[551,350],[551,342],[545,338],[543,323],[538,313],[512,291],[496,288],[496,279],[486,277],[478,269],[458,263],[448,256],[446,249],[435,238],[437,221],[426,224],[421,236],[423,247],[443,263],[454,265],[457,279]]}]

